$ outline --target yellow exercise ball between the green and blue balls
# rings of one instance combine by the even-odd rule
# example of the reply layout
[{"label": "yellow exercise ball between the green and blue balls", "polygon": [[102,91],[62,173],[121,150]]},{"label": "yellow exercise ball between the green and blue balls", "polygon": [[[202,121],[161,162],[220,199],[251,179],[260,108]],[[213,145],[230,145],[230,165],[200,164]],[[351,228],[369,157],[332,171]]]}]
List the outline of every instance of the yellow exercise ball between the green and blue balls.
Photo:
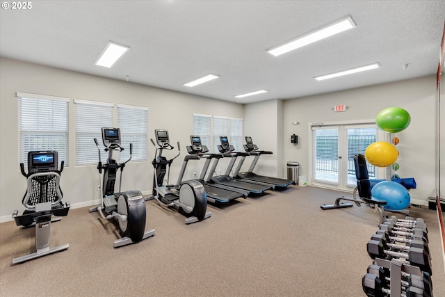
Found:
[{"label": "yellow exercise ball between the green and blue balls", "polygon": [[376,141],[366,147],[364,156],[373,166],[387,167],[397,160],[398,152],[391,143]]}]

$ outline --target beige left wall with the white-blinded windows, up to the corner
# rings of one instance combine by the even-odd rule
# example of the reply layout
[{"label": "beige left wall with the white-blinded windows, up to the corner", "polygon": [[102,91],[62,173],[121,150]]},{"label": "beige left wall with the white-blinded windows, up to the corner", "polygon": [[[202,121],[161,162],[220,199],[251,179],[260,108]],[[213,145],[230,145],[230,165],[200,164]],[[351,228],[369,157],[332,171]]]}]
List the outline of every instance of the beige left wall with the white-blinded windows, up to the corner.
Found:
[{"label": "beige left wall with the white-blinded windows, up to the corner", "polygon": [[[149,138],[154,129],[168,129],[171,141],[181,142],[181,156],[186,154],[189,136],[193,132],[193,113],[225,115],[243,118],[243,105],[216,99],[186,95],[170,90],[151,88],[127,81],[116,81],[79,72],[24,63],[1,58],[0,85],[0,221],[10,220],[15,209],[23,210],[22,197],[26,179],[19,171],[18,156],[18,104],[17,92],[68,97],[70,101],[69,163],[63,170],[61,188],[64,201],[72,207],[83,207],[99,201],[96,166],[76,166],[75,162],[75,104],[74,98],[114,104],[148,107]],[[115,122],[117,124],[117,122]],[[122,190],[138,189],[150,193],[152,188],[154,147],[147,147],[149,160],[131,162],[124,170]],[[171,152],[174,156],[175,152]],[[169,152],[170,153],[170,152]],[[169,154],[166,152],[166,156]],[[182,165],[179,157],[172,165],[171,182],[176,182]],[[193,178],[202,163],[190,164],[186,178]],[[221,163],[223,166],[224,163]],[[223,168],[224,170],[225,168]],[[97,200],[97,201],[95,201]]]}]

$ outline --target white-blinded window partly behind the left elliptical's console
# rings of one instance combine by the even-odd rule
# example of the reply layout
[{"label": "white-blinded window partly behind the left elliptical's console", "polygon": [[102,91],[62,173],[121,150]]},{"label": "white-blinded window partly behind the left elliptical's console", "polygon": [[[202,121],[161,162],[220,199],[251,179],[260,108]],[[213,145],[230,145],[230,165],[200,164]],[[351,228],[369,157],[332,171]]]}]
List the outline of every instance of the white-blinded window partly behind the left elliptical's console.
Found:
[{"label": "white-blinded window partly behind the left elliptical's console", "polygon": [[74,99],[76,104],[76,165],[97,163],[99,156],[94,138],[101,147],[102,162],[108,154],[103,153],[102,127],[113,127],[113,104]]}]

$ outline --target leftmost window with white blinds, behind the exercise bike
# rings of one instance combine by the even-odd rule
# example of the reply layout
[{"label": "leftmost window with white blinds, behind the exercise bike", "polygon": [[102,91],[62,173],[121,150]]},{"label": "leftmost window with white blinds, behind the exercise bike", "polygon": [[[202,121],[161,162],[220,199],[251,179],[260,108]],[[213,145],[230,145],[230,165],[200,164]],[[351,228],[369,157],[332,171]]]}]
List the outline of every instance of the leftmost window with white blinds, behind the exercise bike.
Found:
[{"label": "leftmost window with white blinds, behind the exercise bike", "polygon": [[[28,152],[56,150],[58,166],[68,166],[68,98],[17,93],[19,98],[19,162]],[[26,167],[26,165],[25,165]]]}]

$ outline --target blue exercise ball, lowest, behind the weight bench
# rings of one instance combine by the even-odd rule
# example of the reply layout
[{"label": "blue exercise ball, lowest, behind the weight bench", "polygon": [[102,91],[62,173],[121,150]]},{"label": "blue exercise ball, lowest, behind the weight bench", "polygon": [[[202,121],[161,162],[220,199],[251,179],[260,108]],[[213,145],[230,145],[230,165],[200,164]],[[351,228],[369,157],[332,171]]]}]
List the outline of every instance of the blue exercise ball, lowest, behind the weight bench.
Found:
[{"label": "blue exercise ball, lowest, behind the weight bench", "polygon": [[371,194],[378,200],[385,200],[384,209],[402,210],[410,205],[410,193],[407,189],[396,182],[379,182],[371,189]]}]

